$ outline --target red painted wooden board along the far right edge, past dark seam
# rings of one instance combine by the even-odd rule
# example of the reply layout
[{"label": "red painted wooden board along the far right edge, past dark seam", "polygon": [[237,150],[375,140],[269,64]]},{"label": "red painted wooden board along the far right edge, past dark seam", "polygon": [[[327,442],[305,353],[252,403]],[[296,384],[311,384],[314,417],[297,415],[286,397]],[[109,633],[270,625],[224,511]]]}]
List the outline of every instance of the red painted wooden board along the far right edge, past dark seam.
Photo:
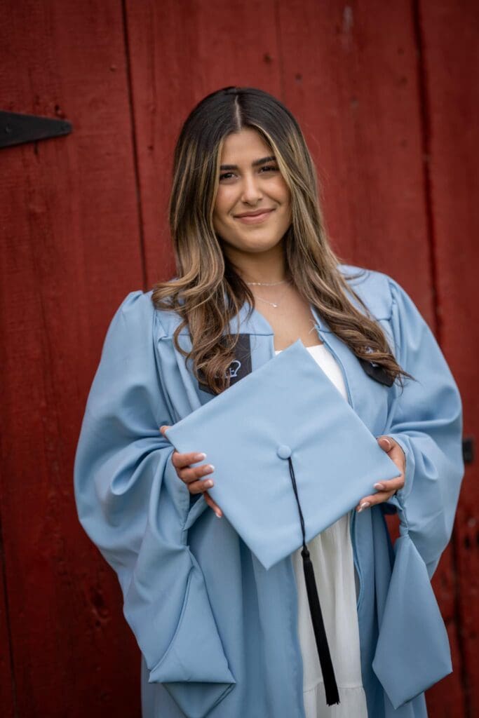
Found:
[{"label": "red painted wooden board along the far right edge, past dark seam", "polygon": [[[440,340],[462,393],[464,433],[475,437],[477,449],[479,90],[477,83],[471,82],[471,73],[479,67],[479,6],[468,0],[440,0],[422,1],[419,8],[427,78]],[[466,470],[455,526],[462,689],[470,716],[479,715],[478,487],[476,458]],[[439,708],[440,700],[435,705]]]}]

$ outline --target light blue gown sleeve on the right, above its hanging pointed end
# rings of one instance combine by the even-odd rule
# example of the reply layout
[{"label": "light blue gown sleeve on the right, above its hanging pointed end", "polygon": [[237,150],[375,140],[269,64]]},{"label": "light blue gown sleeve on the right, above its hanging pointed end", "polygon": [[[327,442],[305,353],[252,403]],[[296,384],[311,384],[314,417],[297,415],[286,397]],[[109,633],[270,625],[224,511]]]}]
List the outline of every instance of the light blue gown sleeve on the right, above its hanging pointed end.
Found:
[{"label": "light blue gown sleeve on the right, above its hanging pointed end", "polygon": [[406,454],[404,488],[389,503],[398,508],[432,577],[450,540],[464,472],[461,400],[427,323],[404,289],[389,281],[396,360],[413,376],[403,388],[394,386],[384,432]]}]

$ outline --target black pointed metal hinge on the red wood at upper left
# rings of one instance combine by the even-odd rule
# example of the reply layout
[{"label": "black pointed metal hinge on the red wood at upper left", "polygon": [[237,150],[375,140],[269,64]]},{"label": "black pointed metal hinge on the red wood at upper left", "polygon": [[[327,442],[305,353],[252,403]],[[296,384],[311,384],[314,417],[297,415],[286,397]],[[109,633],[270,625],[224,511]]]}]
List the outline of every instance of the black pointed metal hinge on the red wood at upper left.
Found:
[{"label": "black pointed metal hinge on the red wood at upper left", "polygon": [[71,131],[72,123],[68,120],[0,111],[0,149],[14,144],[60,137],[70,134]]}]

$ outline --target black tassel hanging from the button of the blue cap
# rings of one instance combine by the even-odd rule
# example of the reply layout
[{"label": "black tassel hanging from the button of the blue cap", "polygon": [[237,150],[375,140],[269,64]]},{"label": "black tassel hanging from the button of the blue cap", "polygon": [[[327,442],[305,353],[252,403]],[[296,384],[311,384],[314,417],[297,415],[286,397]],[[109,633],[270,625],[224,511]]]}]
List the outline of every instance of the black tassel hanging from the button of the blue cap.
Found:
[{"label": "black tassel hanging from the button of the blue cap", "polygon": [[328,706],[332,706],[340,702],[338,684],[336,684],[335,672],[334,668],[332,667],[331,653],[330,647],[327,643],[325,623],[322,620],[320,597],[317,595],[315,571],[313,569],[312,561],[310,559],[310,551],[307,550],[306,546],[304,535],[304,518],[302,515],[301,505],[299,503],[296,477],[294,476],[294,469],[291,457],[288,458],[288,462],[289,475],[291,476],[294,496],[296,497],[299,510],[299,521],[301,522],[301,531],[303,537],[303,547],[301,555],[303,559],[304,582],[306,584],[307,600],[310,605],[312,628],[315,632],[317,655],[320,658],[322,679],[325,684],[326,702]]}]

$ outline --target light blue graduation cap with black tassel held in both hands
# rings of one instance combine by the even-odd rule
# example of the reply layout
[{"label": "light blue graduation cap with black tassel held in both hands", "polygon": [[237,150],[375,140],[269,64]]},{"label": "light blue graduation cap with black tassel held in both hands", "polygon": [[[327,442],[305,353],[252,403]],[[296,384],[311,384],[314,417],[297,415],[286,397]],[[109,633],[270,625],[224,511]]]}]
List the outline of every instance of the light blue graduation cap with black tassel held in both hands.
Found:
[{"label": "light blue graduation cap with black tassel held in both hands", "polygon": [[266,569],[302,546],[327,704],[339,703],[307,542],[399,470],[301,340],[170,426],[179,452],[205,452],[208,489]]}]

